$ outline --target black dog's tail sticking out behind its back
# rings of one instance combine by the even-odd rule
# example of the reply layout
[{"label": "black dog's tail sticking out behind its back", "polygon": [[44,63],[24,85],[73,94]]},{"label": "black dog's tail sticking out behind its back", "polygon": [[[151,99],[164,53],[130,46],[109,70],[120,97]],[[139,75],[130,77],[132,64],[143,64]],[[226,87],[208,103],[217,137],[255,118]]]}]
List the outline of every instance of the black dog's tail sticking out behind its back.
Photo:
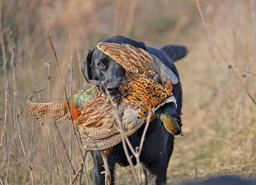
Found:
[{"label": "black dog's tail sticking out behind its back", "polygon": [[188,50],[185,46],[165,45],[160,48],[161,51],[165,52],[172,61],[178,61],[186,56]]}]

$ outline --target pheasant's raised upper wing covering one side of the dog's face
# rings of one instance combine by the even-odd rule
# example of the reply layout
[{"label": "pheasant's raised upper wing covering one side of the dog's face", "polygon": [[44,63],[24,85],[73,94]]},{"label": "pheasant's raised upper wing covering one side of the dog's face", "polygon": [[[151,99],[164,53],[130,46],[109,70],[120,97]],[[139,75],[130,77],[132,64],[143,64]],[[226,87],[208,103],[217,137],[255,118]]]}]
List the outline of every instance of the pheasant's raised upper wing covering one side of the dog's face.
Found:
[{"label": "pheasant's raised upper wing covering one side of the dog's face", "polygon": [[98,43],[97,48],[119,63],[126,72],[151,73],[153,76],[159,75],[163,84],[167,81],[170,81],[171,84],[178,83],[177,76],[170,68],[165,66],[156,56],[142,48],[136,48],[129,44],[104,42]]}]

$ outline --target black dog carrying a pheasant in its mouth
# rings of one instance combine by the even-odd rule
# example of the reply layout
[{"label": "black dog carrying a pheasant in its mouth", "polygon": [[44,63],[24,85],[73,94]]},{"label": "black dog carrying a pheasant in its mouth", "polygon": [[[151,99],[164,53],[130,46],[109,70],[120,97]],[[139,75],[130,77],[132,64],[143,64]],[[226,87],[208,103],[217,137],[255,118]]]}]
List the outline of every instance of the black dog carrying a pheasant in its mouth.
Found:
[{"label": "black dog carrying a pheasant in its mouth", "polygon": [[[137,48],[143,48],[146,51],[157,56],[167,67],[169,67],[178,77],[178,71],[175,68],[173,61],[183,58],[186,55],[186,48],[183,46],[167,45],[160,50],[146,47],[144,43],[134,41],[130,38],[116,35],[104,40],[108,43],[128,43]],[[120,96],[118,86],[120,82],[125,80],[124,69],[113,61],[110,57],[99,51],[97,47],[89,50],[84,62],[82,63],[82,71],[85,79],[89,82],[90,79],[99,81],[100,89],[105,92],[105,88],[110,92],[111,96]],[[182,103],[182,90],[180,83],[173,86],[173,94],[177,100],[178,108],[176,112],[180,115]],[[147,181],[150,184],[165,184],[166,169],[170,160],[170,155],[173,149],[173,135],[170,134],[161,124],[159,119],[154,119],[146,132],[144,145],[142,148],[140,160],[146,169]],[[129,139],[133,147],[139,146],[141,135],[144,130],[144,125],[139,128]],[[94,167],[91,170],[91,178],[94,184],[103,185],[104,171],[103,161],[100,151],[91,151]],[[117,144],[108,157],[108,164],[111,172],[112,184],[115,175],[115,164],[128,166],[129,163],[125,157],[122,143]],[[136,165],[136,160],[133,157],[133,164]]]}]

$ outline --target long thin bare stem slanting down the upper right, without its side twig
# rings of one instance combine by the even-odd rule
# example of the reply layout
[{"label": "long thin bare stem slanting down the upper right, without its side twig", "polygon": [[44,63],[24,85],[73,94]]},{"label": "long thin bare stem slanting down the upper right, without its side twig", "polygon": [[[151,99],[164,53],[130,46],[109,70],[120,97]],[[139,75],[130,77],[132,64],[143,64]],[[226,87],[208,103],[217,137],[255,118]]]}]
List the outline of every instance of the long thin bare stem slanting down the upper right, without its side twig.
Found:
[{"label": "long thin bare stem slanting down the upper right, without its side twig", "polygon": [[256,101],[253,99],[253,97],[251,96],[251,94],[249,93],[248,89],[246,88],[246,86],[242,83],[242,81],[240,81],[240,79],[238,78],[238,76],[236,76],[235,72],[232,70],[232,68],[230,67],[230,64],[227,62],[226,58],[223,56],[222,52],[220,51],[220,49],[218,48],[217,44],[214,42],[213,38],[212,38],[212,35],[205,23],[205,20],[204,20],[204,16],[203,16],[203,13],[201,11],[201,8],[200,8],[200,5],[199,5],[199,2],[198,0],[196,0],[196,4],[197,4],[197,7],[198,7],[198,10],[199,10],[199,13],[200,13],[200,16],[201,16],[201,19],[202,19],[202,22],[204,24],[204,28],[206,29],[206,32],[212,42],[212,44],[214,45],[214,47],[216,48],[216,50],[218,51],[219,55],[222,57],[222,59],[225,61],[228,69],[231,71],[232,75],[235,77],[235,79],[237,79],[237,81],[239,82],[239,84],[246,90],[246,93],[247,95],[250,97],[250,99],[253,101],[253,103],[256,105]]}]

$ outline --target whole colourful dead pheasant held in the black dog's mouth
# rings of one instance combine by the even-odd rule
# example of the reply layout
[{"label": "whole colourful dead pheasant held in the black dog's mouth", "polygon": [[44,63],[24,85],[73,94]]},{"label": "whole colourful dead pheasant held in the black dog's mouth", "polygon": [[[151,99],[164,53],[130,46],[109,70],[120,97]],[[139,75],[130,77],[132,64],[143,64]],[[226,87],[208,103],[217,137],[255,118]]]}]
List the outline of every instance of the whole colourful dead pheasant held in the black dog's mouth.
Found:
[{"label": "whole colourful dead pheasant held in the black dog's mouth", "polygon": [[[175,112],[176,100],[172,94],[172,84],[178,79],[158,58],[128,44],[99,43],[97,47],[125,69],[127,80],[120,85],[121,99],[103,94],[99,82],[92,80],[67,99],[68,105],[65,99],[36,103],[32,101],[34,95],[30,96],[28,110],[21,116],[50,118],[59,122],[69,117],[69,106],[69,119],[79,128],[78,139],[86,146],[85,150],[102,150],[105,183],[108,184],[111,179],[107,156],[111,148],[122,140],[121,127],[130,136],[146,122],[148,110],[154,112],[151,120],[158,116],[172,134],[182,135],[182,124]],[[121,125],[117,117],[120,117]]]}]

